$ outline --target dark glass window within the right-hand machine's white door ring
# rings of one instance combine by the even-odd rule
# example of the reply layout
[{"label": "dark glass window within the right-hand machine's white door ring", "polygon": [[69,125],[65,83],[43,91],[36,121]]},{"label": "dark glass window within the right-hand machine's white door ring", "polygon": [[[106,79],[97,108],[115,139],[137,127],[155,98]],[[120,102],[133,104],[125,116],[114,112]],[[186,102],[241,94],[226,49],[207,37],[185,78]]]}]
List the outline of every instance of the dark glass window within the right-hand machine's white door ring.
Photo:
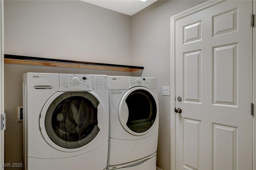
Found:
[{"label": "dark glass window within the right-hand machine's white door ring", "polygon": [[145,132],[156,120],[156,101],[146,90],[135,90],[126,98],[129,116],[126,125],[132,131]]}]

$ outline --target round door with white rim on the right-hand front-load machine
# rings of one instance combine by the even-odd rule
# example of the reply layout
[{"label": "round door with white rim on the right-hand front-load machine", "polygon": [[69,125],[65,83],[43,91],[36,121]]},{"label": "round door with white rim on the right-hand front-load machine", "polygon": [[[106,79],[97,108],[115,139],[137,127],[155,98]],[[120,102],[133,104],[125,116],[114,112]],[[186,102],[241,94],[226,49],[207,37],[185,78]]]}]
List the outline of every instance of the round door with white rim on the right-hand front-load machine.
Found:
[{"label": "round door with white rim on the right-hand front-load machine", "polygon": [[122,97],[118,116],[122,127],[130,134],[141,136],[150,131],[156,120],[156,99],[145,87],[134,87]]}]

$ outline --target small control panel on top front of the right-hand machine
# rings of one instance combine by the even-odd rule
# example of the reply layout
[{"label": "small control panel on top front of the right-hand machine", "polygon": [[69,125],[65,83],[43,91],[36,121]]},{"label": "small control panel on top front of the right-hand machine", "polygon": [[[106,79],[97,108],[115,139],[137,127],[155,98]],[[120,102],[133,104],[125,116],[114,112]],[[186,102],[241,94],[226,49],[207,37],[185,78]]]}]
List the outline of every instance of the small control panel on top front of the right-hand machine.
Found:
[{"label": "small control panel on top front of the right-hand machine", "polygon": [[150,77],[129,77],[130,88],[144,86],[149,89],[156,88],[156,78]]}]

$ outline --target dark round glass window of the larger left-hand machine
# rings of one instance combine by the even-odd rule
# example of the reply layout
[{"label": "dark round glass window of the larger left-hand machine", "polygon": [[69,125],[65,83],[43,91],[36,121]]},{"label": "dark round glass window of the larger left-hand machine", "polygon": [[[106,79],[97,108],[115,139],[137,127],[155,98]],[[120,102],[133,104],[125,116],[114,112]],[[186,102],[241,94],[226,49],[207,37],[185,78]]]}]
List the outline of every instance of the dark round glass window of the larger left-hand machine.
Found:
[{"label": "dark round glass window of the larger left-hand machine", "polygon": [[50,139],[63,148],[79,148],[92,141],[100,129],[99,101],[88,92],[58,96],[46,112],[45,127]]}]

